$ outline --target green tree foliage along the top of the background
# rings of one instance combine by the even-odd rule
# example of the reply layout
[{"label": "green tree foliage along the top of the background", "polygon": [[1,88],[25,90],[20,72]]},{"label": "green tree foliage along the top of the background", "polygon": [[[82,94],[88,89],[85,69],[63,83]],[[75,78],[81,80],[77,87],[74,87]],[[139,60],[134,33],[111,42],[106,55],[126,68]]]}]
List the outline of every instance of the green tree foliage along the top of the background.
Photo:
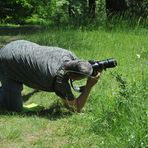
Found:
[{"label": "green tree foliage along the top of the background", "polygon": [[131,14],[147,17],[147,0],[122,1],[123,3],[117,3],[119,0],[5,0],[0,1],[0,21],[15,24],[100,23],[106,18],[107,6],[115,9],[115,6],[122,8],[123,4],[126,4]]}]

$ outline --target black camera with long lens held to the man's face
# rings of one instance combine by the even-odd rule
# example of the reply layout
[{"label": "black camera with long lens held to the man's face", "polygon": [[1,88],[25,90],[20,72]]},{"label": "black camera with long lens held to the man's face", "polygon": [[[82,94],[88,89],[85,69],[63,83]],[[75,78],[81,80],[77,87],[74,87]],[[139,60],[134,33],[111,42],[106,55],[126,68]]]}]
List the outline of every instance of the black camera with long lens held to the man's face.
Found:
[{"label": "black camera with long lens held to the man's face", "polygon": [[114,58],[109,58],[102,61],[90,60],[89,63],[92,65],[93,73],[92,76],[95,76],[97,71],[106,70],[107,68],[114,68],[117,66],[117,61]]}]

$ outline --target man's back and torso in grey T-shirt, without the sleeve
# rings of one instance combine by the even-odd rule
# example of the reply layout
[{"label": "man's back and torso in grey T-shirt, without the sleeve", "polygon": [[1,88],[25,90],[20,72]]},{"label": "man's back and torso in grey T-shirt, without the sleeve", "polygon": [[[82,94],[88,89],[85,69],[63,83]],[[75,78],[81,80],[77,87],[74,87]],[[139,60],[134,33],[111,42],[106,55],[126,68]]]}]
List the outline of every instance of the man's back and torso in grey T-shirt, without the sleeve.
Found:
[{"label": "man's back and torso in grey T-shirt, without the sleeve", "polygon": [[44,91],[54,91],[57,70],[66,60],[74,59],[70,51],[24,40],[11,42],[0,50],[1,69],[6,78]]}]

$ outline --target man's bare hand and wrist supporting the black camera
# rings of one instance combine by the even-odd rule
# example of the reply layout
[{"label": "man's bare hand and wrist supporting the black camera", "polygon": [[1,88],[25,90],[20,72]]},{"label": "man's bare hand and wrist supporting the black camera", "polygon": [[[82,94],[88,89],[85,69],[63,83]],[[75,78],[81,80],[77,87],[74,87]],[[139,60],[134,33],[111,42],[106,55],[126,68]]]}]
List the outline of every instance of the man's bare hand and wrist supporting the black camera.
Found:
[{"label": "man's bare hand and wrist supporting the black camera", "polygon": [[93,78],[92,78],[92,77],[88,78],[87,84],[86,84],[86,85],[88,85],[88,86],[90,86],[90,87],[94,86],[94,85],[98,82],[100,76],[101,76],[101,72],[97,72],[97,74],[96,74],[95,77],[93,77]]}]

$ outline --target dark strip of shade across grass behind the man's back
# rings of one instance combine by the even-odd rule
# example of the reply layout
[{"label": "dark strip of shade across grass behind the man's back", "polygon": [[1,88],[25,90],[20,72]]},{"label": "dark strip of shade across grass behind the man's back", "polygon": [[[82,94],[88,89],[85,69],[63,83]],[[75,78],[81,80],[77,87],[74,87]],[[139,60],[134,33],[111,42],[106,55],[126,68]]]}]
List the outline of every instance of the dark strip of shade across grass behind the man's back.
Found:
[{"label": "dark strip of shade across grass behind the man's back", "polygon": [[38,31],[41,31],[42,27],[38,25],[33,26],[1,26],[0,27],[0,36],[16,36],[16,35],[25,35],[33,34]]}]

